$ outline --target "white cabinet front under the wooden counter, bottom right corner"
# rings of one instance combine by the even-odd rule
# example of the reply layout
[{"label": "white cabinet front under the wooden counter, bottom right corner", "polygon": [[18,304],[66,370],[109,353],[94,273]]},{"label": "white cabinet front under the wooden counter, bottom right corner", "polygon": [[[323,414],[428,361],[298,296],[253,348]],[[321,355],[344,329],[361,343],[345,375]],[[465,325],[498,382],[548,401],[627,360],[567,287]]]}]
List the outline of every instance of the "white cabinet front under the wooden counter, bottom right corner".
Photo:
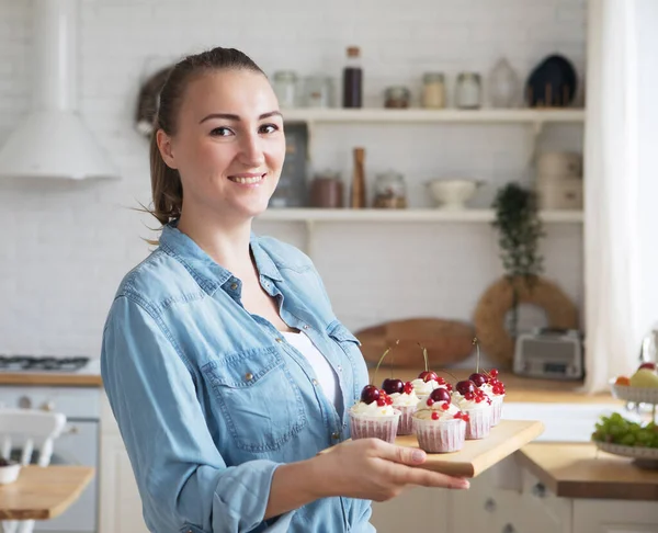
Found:
[{"label": "white cabinet front under the wooden counter, bottom right corner", "polygon": [[656,533],[653,501],[574,500],[574,533]]}]

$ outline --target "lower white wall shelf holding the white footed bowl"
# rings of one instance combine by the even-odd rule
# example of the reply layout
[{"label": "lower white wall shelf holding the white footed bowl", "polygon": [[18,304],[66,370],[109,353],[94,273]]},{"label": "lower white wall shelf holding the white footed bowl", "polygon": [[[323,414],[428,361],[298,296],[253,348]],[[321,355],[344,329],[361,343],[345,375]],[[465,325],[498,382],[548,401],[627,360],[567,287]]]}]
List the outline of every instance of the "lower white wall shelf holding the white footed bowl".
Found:
[{"label": "lower white wall shelf holding the white footed bowl", "polygon": [[[324,208],[269,208],[260,217],[266,222],[306,223],[491,223],[492,209],[324,209]],[[545,223],[582,223],[582,211],[544,211]]]}]

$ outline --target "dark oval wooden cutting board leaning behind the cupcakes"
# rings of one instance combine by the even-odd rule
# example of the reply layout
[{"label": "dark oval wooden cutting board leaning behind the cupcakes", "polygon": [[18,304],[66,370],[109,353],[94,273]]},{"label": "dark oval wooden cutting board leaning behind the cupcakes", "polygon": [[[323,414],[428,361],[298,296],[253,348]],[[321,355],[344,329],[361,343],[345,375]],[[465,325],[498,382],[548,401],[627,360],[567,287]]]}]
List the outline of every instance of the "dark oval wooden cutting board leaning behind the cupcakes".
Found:
[{"label": "dark oval wooden cutting board leaning behind the cupcakes", "polygon": [[[429,366],[438,368],[468,358],[473,351],[475,329],[472,325],[440,318],[410,318],[384,322],[354,333],[361,341],[364,359],[379,361],[388,347],[395,347],[382,366],[424,370],[422,350],[428,349]],[[395,345],[399,339],[399,344]]]}]

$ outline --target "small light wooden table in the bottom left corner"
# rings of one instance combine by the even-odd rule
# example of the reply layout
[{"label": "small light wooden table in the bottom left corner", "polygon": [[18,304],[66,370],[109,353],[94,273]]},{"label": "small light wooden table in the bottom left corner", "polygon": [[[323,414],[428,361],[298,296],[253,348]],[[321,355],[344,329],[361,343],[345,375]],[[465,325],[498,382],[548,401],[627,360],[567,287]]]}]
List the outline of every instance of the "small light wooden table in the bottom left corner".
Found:
[{"label": "small light wooden table in the bottom left corner", "polygon": [[0,520],[49,520],[66,511],[93,478],[91,466],[23,466],[0,485]]}]

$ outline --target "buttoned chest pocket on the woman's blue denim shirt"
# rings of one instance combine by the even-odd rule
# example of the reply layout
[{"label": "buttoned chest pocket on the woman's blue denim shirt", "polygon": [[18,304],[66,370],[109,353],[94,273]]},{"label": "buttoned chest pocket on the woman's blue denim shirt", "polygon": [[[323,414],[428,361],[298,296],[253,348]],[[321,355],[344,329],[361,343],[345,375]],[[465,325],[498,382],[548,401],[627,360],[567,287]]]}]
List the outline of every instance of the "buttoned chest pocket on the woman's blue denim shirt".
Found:
[{"label": "buttoned chest pocket on the woman's blue denim shirt", "polygon": [[240,450],[276,451],[306,426],[299,387],[276,348],[218,358],[202,371]]}]

